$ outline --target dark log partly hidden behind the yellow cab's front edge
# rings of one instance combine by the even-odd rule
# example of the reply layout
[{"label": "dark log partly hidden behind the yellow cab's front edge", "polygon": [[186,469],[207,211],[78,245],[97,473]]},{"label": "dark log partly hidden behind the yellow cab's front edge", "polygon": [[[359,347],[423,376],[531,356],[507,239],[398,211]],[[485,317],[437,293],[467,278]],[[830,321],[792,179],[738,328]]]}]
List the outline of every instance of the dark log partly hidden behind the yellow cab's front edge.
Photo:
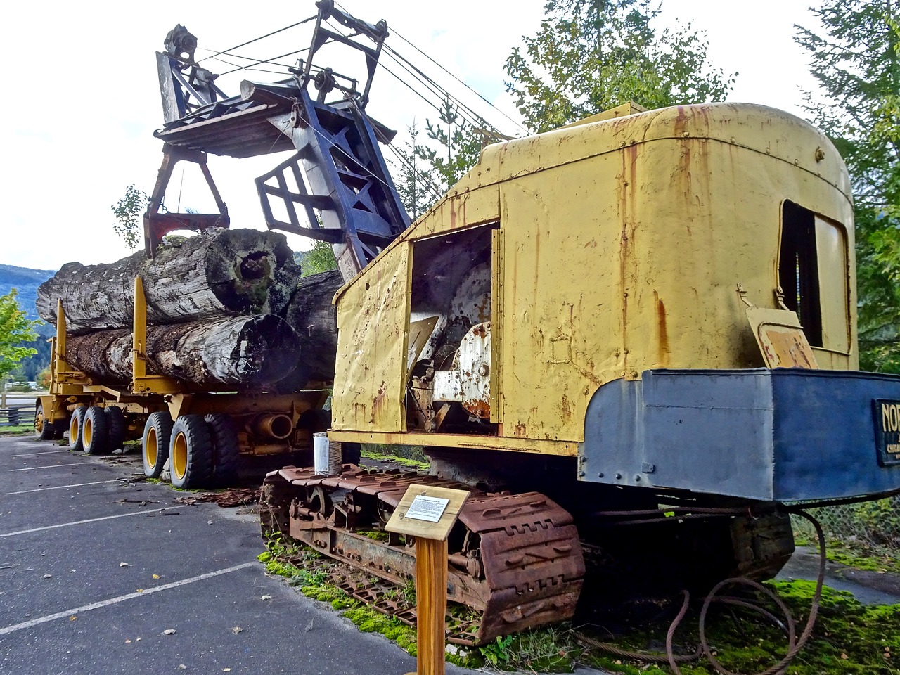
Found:
[{"label": "dark log partly hidden behind the yellow cab's front edge", "polygon": [[311,380],[334,380],[338,357],[338,312],[331,299],[342,285],[344,278],[338,270],[305,276],[298,281],[297,290],[283,312],[284,319],[300,339],[303,355],[302,365],[293,379],[299,379],[305,371]]}]

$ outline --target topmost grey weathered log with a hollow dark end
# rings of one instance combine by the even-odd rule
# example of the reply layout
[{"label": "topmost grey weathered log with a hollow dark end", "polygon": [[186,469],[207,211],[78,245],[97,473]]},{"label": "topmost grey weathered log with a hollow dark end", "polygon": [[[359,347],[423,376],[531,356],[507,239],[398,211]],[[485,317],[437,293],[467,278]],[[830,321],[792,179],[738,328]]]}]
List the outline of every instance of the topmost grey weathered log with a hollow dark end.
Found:
[{"label": "topmost grey weathered log with a hollow dark end", "polygon": [[138,275],[148,323],[167,324],[283,311],[300,267],[284,235],[211,229],[160,247],[153,260],[141,251],[109,265],[67,263],[40,285],[38,314],[56,324],[61,299],[69,333],[130,328]]}]

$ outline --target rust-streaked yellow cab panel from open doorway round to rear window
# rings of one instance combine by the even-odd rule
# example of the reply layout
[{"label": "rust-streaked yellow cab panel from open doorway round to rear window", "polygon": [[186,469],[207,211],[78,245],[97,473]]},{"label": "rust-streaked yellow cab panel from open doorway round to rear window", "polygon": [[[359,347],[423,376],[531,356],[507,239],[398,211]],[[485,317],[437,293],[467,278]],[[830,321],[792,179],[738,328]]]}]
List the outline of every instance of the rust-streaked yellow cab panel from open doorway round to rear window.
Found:
[{"label": "rust-streaked yellow cab panel from open doorway round to rear window", "polygon": [[[827,139],[759,106],[585,124],[510,141],[496,159],[507,436],[581,441],[590,395],[616,378],[762,365],[734,289],[774,302],[781,202],[852,222]],[[842,317],[849,306],[852,324],[851,292],[824,302]],[[838,354],[825,367],[853,365]]]}]

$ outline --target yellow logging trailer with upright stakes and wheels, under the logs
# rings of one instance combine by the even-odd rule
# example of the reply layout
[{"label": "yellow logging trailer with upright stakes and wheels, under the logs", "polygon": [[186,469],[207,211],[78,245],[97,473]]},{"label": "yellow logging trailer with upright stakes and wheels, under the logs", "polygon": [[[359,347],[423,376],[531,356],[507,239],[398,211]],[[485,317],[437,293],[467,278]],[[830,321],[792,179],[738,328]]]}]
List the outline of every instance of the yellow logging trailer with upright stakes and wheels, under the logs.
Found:
[{"label": "yellow logging trailer with upright stakes and wheels, under the logs", "polygon": [[321,410],[327,390],[209,392],[150,373],[140,277],[134,298],[132,376],[126,387],[99,382],[68,363],[66,314],[58,302],[49,394],[36,401],[36,437],[58,439],[67,431],[69,448],[88,455],[108,454],[139,438],[145,475],[159,478],[168,460],[172,484],[179,488],[227,486],[244,468],[242,458],[278,455],[284,462],[293,454],[309,464],[312,434],[328,428]]}]

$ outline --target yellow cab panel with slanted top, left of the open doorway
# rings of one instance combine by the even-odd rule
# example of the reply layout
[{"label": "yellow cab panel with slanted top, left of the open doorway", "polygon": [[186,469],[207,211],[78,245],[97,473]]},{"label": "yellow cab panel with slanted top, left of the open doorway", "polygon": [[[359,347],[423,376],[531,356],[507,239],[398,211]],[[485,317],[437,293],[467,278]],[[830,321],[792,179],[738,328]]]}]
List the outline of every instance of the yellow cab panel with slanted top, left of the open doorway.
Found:
[{"label": "yellow cab panel with slanted top, left of the open doorway", "polygon": [[339,297],[333,428],[406,429],[411,250],[384,251]]}]

